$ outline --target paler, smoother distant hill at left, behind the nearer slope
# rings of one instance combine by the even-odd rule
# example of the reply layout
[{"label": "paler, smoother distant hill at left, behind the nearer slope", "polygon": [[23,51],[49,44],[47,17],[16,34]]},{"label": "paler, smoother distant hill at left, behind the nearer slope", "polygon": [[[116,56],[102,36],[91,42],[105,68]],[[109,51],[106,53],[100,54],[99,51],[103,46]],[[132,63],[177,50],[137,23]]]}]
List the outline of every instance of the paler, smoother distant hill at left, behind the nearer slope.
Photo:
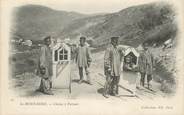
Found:
[{"label": "paler, smoother distant hill at left, behind the nearer slope", "polygon": [[80,13],[57,11],[40,5],[16,7],[13,15],[12,33],[31,40],[40,40],[46,35],[56,35],[71,21],[86,17]]}]

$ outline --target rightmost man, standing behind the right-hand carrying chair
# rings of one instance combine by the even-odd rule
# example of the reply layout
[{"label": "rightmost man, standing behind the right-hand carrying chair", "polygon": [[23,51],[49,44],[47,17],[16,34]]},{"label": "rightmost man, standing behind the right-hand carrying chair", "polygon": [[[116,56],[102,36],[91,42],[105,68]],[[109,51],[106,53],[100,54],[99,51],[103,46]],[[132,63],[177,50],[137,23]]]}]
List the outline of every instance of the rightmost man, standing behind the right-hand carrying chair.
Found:
[{"label": "rightmost man, standing behind the right-hand carrying chair", "polygon": [[147,76],[148,89],[150,88],[150,81],[152,80],[154,59],[151,52],[148,50],[148,43],[143,43],[143,51],[139,57],[139,72],[141,75],[140,84],[144,87],[145,77]]}]

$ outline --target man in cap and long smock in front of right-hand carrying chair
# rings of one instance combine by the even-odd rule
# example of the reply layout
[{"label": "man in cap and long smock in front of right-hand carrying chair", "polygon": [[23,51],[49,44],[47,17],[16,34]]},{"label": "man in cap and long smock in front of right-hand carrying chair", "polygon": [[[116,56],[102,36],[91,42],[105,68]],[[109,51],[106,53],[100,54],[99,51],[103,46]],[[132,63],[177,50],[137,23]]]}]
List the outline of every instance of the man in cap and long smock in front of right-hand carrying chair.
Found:
[{"label": "man in cap and long smock in front of right-hand carrying chair", "polygon": [[118,46],[118,39],[119,37],[111,37],[111,45],[105,51],[104,73],[106,83],[103,93],[105,97],[107,97],[107,94],[118,95],[118,84],[122,69],[121,62],[124,56],[123,49]]}]

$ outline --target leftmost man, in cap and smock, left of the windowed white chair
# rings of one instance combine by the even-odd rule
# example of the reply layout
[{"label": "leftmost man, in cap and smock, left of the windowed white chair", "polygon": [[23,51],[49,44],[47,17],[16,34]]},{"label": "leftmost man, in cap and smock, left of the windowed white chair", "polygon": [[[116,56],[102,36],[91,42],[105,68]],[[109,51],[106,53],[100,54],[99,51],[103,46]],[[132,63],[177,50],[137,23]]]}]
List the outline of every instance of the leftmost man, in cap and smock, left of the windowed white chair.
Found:
[{"label": "leftmost man, in cap and smock, left of the windowed white chair", "polygon": [[51,44],[51,37],[48,36],[44,38],[44,45],[41,47],[40,50],[40,57],[39,57],[39,65],[38,65],[38,74],[41,77],[41,83],[38,91],[41,91],[48,95],[53,95],[51,88],[52,88],[52,81],[51,77],[53,75],[52,71],[52,50],[50,48]]}]

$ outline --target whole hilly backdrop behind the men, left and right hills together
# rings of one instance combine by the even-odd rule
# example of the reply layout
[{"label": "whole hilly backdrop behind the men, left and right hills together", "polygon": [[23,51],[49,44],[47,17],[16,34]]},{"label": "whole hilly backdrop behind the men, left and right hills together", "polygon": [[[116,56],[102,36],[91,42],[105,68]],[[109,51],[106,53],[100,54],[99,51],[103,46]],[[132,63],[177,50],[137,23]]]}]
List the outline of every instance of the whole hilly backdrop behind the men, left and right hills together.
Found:
[{"label": "whole hilly backdrop behind the men, left and right hills together", "polygon": [[[39,5],[26,5],[14,10],[12,33],[23,39],[40,40],[43,36],[72,40],[85,35],[93,47],[103,47],[111,36],[120,36],[122,44],[138,46],[175,38],[175,13],[165,3],[132,6],[110,14],[83,15],[57,11]],[[161,42],[161,43],[160,43]]]}]

